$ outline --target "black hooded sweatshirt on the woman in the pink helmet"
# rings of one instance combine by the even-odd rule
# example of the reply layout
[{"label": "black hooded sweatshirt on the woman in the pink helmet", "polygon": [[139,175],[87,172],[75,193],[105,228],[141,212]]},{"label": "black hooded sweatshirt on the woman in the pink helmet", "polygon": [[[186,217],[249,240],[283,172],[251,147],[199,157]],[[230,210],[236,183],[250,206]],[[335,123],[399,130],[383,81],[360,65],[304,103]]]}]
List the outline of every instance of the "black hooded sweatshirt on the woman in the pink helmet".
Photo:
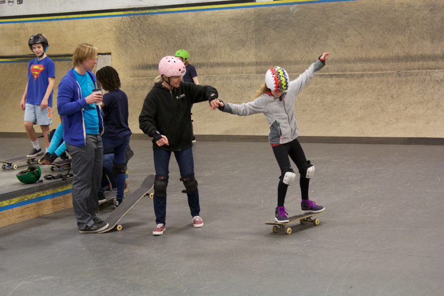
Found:
[{"label": "black hooded sweatshirt on the woman in the pink helmet", "polygon": [[[139,127],[152,137],[152,148],[180,151],[192,147],[191,107],[194,103],[211,101],[218,97],[216,88],[181,82],[169,90],[161,82],[155,83],[144,101],[139,115]],[[164,135],[169,146],[157,146]]]}]

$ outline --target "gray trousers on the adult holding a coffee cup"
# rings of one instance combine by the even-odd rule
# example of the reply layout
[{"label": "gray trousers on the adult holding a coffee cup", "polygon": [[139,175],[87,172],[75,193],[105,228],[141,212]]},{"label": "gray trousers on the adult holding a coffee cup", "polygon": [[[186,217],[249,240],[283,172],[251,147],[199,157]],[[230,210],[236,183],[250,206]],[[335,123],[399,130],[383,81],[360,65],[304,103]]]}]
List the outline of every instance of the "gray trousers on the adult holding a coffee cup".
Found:
[{"label": "gray trousers on the adult holding a coffee cup", "polygon": [[102,137],[86,134],[86,146],[66,143],[72,156],[73,206],[79,230],[91,226],[99,209],[97,191],[102,180],[103,145]]}]

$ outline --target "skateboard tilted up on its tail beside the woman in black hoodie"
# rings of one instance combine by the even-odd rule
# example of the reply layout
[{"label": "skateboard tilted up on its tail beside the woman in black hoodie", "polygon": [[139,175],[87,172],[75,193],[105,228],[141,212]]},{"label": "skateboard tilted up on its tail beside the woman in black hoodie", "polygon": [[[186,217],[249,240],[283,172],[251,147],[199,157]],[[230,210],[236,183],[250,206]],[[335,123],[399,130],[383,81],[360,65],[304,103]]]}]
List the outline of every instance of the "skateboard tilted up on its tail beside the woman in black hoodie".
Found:
[{"label": "skateboard tilted up on its tail beside the woman in black hoodie", "polygon": [[[115,210],[113,210],[108,216],[108,218],[105,220],[107,222],[108,228],[105,230],[100,231],[99,233],[104,233],[107,231],[110,231],[114,227],[117,230],[122,230],[122,225],[119,224],[120,220],[123,218],[123,216],[126,215],[126,213],[131,210],[134,205],[142,199],[145,195],[148,195],[148,192],[153,188],[154,186],[154,175],[148,175],[147,178],[142,182],[142,184],[131,192],[128,196],[123,199],[123,202],[121,205],[119,205]],[[149,193],[149,195],[152,195],[153,193]]]}]

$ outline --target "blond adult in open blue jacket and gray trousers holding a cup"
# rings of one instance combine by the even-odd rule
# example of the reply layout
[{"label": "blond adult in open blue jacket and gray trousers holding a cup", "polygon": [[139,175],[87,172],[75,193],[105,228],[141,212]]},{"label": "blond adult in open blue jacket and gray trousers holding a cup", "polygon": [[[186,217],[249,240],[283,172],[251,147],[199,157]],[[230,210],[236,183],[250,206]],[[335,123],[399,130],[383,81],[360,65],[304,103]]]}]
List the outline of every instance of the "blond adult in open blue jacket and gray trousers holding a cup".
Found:
[{"label": "blond adult in open blue jacket and gray trousers holding a cup", "polygon": [[63,116],[63,139],[72,156],[73,206],[79,232],[99,232],[108,223],[96,216],[97,191],[102,180],[103,130],[101,92],[93,92],[96,77],[97,48],[79,44],[73,54],[74,68],[58,87],[57,110]]}]

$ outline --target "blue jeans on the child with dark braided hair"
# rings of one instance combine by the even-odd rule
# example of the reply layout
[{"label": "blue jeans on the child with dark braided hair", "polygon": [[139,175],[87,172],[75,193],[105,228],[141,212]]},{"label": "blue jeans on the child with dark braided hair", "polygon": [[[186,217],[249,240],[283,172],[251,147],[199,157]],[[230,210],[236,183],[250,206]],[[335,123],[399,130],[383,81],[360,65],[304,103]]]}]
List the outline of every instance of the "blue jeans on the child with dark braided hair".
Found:
[{"label": "blue jeans on the child with dark braided hair", "polygon": [[[118,139],[102,138],[103,154],[109,154],[114,151],[114,163],[125,164],[126,147],[129,144],[130,135]],[[115,177],[117,185],[117,198],[123,198],[125,190],[125,173],[119,173]],[[112,184],[115,186],[114,184]]]}]

